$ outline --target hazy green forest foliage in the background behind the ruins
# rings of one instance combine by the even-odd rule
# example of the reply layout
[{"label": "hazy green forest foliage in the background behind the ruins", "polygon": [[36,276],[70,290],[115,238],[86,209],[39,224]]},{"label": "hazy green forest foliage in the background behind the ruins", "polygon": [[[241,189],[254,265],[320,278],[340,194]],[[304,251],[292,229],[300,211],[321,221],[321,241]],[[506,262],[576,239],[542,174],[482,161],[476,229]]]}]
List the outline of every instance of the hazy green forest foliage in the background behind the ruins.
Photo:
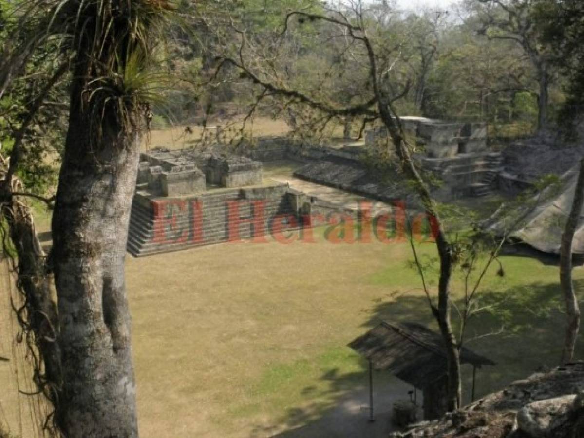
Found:
[{"label": "hazy green forest foliage in the background behind the ruins", "polygon": [[[185,3],[186,5],[187,3]],[[387,6],[366,3],[364,22],[368,37],[378,54],[378,69],[386,72],[387,93],[395,95],[409,85],[409,91],[394,103],[401,115],[423,115],[447,120],[484,120],[496,124],[520,119],[535,122],[537,117],[526,96],[538,92],[536,71],[529,57],[515,41],[488,39],[479,35],[481,8],[468,2],[463,20],[447,13],[420,11],[400,15]],[[318,0],[220,0],[201,2],[190,24],[192,31],[171,47],[171,69],[189,79],[166,94],[157,114],[175,122],[191,121],[204,113],[219,115],[230,108],[244,113],[255,104],[260,90],[248,78],[224,67],[212,89],[200,87],[214,74],[213,57],[225,52],[239,56],[239,40],[245,37],[253,50],[245,51],[249,66],[260,78],[297,90],[335,106],[361,103],[371,96],[366,54],[360,43],[346,47],[336,27],[321,20],[293,17],[281,34],[287,13],[322,13],[333,16]],[[328,5],[330,6],[330,5]],[[186,6],[185,6],[186,8]],[[185,9],[185,13],[188,12]],[[345,11],[349,20],[352,13]],[[188,15],[186,13],[186,15]],[[523,18],[522,18],[523,19]],[[211,23],[211,24],[210,24]],[[489,36],[494,37],[492,30]],[[498,35],[499,36],[499,35]],[[192,69],[189,64],[194,62]],[[190,84],[187,82],[190,81]],[[517,93],[519,108],[512,100]],[[558,96],[558,93],[551,93]],[[298,110],[289,99],[269,96],[260,108],[269,107],[274,117],[298,119],[292,125],[316,131],[321,126],[300,120],[310,111]],[[343,122],[337,120],[336,122]],[[355,121],[358,125],[359,121]],[[318,135],[317,135],[318,136]]]}]

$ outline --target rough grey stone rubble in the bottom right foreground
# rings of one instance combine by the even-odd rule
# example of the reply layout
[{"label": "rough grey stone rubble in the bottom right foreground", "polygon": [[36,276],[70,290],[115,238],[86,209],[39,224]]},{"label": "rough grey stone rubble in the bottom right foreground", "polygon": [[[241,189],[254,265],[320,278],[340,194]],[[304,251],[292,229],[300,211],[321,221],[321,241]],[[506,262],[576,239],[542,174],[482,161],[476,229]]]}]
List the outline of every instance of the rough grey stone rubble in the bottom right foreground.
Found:
[{"label": "rough grey stone rubble in the bottom right foreground", "polygon": [[390,438],[584,437],[584,362],[533,374],[439,421],[422,422]]}]

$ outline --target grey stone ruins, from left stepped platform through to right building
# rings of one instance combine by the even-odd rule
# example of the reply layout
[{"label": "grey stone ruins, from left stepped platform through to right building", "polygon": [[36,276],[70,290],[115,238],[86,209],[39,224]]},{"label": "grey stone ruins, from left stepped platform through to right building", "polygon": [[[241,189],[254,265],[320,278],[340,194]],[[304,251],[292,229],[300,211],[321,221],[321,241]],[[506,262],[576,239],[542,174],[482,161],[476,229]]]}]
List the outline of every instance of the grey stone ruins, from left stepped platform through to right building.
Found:
[{"label": "grey stone ruins, from left stepped platform through to right building", "polygon": [[[423,169],[446,183],[436,196],[484,195],[495,184],[500,157],[486,146],[484,124],[419,117],[402,122],[425,150],[416,156]],[[365,146],[382,135],[383,129],[369,132]],[[384,180],[364,164],[363,146],[298,147],[281,140],[260,141],[259,147],[240,152],[265,161],[305,162],[295,177],[387,204],[405,201],[416,209],[416,197],[399,178]],[[155,148],[141,155],[127,248],[141,256],[258,238],[273,234],[274,227],[285,232],[314,226],[312,218],[338,212],[347,210],[287,183],[263,181],[262,163],[249,157]]]}]

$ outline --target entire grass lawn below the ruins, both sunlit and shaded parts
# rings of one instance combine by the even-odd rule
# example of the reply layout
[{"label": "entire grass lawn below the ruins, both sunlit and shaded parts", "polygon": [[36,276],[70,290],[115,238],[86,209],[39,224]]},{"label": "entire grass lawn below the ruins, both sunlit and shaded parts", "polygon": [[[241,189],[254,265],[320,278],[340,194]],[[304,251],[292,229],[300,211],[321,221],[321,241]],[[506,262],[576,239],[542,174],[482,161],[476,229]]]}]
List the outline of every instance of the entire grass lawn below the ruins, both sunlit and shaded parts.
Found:
[{"label": "entire grass lawn below the ruins, both sunlit and shaded parts", "polygon": [[[427,244],[421,250],[433,253]],[[366,364],[347,342],[381,319],[435,328],[408,260],[403,244],[324,241],[128,259],[142,436],[323,427],[367,383]],[[556,365],[563,337],[557,267],[522,257],[502,262],[506,275],[493,268],[483,295],[498,307],[470,328],[473,337],[505,327],[468,345],[498,363],[479,371],[478,395]],[[575,277],[581,288],[582,269]],[[465,383],[468,401],[470,370]]]}]

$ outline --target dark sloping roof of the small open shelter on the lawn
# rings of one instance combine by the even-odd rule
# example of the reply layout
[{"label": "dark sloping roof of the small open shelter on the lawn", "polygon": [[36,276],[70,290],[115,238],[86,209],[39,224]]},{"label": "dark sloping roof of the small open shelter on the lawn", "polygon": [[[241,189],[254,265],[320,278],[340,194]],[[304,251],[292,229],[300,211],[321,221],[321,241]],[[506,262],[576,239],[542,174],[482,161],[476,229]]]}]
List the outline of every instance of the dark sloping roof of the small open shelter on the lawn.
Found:
[{"label": "dark sloping roof of the small open shelter on the lawn", "polygon": [[[420,390],[447,374],[442,337],[420,324],[383,321],[350,342],[349,347],[369,359],[375,369],[389,370]],[[460,362],[477,368],[495,365],[466,348],[461,349]]]}]

